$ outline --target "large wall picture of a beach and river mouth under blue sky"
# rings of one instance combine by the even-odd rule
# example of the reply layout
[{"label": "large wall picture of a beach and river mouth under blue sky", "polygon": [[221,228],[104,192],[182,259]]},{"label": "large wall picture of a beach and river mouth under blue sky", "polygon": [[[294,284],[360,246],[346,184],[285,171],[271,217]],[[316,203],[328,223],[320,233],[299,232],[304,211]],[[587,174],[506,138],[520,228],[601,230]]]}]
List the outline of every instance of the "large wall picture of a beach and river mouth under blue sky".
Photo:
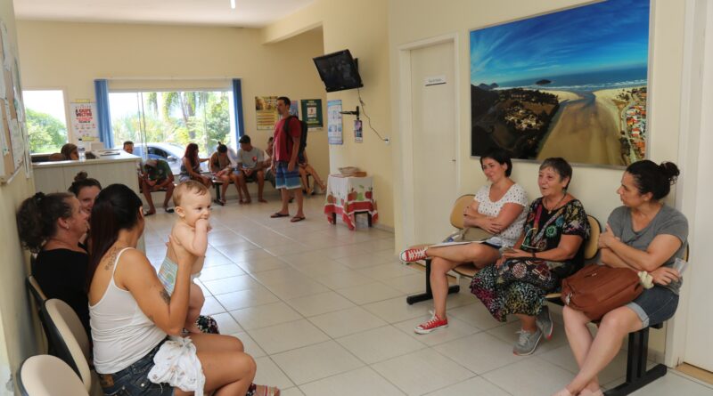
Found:
[{"label": "large wall picture of a beach and river mouth under blue sky", "polygon": [[[472,30],[471,155],[645,158],[649,0],[611,0]],[[596,34],[593,34],[596,32]]]}]

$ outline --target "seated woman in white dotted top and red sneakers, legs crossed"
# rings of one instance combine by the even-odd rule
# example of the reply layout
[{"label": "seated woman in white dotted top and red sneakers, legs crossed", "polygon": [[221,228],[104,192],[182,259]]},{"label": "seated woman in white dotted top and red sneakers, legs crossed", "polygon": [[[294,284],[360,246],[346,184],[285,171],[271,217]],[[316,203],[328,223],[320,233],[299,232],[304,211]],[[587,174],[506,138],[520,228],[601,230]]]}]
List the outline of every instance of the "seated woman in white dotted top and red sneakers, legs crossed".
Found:
[{"label": "seated woman in white dotted top and red sneakers, legs crossed", "polygon": [[525,221],[528,196],[520,184],[510,179],[512,161],[504,150],[493,150],[480,157],[483,174],[489,184],[478,190],[470,206],[463,212],[466,227],[478,227],[494,234],[483,243],[468,245],[406,249],[401,260],[410,263],[432,257],[430,286],[433,292],[433,317],[414,328],[417,334],[428,334],[447,327],[446,299],[448,271],[463,263],[473,263],[478,268],[492,265],[500,257],[500,249],[512,246],[520,236]]}]

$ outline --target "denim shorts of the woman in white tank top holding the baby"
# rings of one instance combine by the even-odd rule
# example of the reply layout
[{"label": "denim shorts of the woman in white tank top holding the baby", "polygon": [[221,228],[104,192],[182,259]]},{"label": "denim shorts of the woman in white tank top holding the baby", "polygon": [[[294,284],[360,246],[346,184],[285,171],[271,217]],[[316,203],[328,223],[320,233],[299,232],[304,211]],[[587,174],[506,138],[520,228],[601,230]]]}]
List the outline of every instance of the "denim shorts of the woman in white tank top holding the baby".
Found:
[{"label": "denim shorts of the woman in white tank top holding the baby", "polygon": [[131,366],[114,374],[100,374],[99,383],[106,396],[172,396],[173,387],[169,384],[153,384],[149,381],[149,371],[153,368],[153,357],[159,352],[165,338],[146,356]]}]

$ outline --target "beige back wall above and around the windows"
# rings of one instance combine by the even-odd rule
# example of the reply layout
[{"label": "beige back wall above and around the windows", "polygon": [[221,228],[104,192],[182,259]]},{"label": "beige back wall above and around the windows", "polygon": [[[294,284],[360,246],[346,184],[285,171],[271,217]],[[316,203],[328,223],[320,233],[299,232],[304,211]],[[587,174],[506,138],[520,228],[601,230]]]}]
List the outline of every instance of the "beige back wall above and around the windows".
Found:
[{"label": "beige back wall above and around the windows", "polygon": [[[63,89],[67,101],[94,101],[94,79],[102,77],[110,78],[110,89],[226,87],[230,78],[242,78],[245,132],[263,150],[272,131],[256,128],[256,95],[321,98],[326,111],[312,62],[324,53],[320,28],[262,44],[260,31],[250,28],[19,20],[18,36],[25,88]],[[307,151],[326,175],[326,129],[309,133]]]}]

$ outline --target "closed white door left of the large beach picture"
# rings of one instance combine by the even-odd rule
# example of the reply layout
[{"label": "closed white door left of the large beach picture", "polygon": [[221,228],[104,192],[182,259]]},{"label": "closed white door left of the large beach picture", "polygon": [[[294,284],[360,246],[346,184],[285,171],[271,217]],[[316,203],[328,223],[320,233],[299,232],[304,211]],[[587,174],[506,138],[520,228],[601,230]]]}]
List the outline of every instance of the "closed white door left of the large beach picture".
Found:
[{"label": "closed white door left of the large beach picture", "polygon": [[439,242],[453,229],[448,220],[456,193],[453,52],[452,41],[411,51],[415,243]]}]

